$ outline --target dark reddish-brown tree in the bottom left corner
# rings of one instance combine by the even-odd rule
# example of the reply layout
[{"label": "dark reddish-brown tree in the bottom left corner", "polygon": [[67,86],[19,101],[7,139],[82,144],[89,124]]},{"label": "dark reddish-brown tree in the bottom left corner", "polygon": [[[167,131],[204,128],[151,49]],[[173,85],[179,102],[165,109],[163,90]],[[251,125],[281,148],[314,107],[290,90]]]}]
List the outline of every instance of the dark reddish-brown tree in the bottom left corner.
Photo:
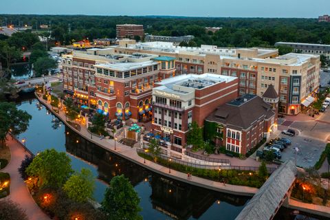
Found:
[{"label": "dark reddish-brown tree in the bottom left corner", "polygon": [[0,200],[0,219],[1,220],[28,220],[25,211],[10,199]]}]

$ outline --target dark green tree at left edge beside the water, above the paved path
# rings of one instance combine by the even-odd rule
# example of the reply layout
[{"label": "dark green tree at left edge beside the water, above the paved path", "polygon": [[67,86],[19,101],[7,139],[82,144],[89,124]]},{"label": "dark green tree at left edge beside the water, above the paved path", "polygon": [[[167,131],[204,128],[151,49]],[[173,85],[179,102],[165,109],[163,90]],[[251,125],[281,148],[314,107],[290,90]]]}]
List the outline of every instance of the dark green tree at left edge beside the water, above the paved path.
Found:
[{"label": "dark green tree at left edge beside the water, above the paved path", "polygon": [[0,140],[11,130],[12,135],[19,135],[28,129],[32,116],[26,111],[17,109],[14,102],[0,102]]}]

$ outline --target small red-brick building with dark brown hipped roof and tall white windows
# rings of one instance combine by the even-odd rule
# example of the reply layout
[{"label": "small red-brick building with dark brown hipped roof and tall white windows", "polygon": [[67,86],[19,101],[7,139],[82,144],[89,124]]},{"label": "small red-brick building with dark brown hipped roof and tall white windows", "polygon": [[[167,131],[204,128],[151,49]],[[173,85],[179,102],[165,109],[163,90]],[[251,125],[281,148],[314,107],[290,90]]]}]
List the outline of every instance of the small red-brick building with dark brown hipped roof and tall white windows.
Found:
[{"label": "small red-brick building with dark brown hipped roof and tall white windows", "polygon": [[[274,88],[273,88],[274,90]],[[212,124],[216,123],[216,126]],[[245,94],[222,104],[205,121],[204,129],[217,129],[212,141],[228,151],[245,154],[276,129],[276,112],[263,98]]]}]

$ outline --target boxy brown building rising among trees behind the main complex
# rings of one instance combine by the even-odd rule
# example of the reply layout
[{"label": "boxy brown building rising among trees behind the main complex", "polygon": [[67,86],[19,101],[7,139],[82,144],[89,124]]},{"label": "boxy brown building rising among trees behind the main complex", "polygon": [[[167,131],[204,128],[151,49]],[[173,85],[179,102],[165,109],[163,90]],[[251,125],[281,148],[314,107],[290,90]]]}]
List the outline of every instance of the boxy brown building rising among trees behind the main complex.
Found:
[{"label": "boxy brown building rising among trees behind the main complex", "polygon": [[134,39],[134,36],[144,37],[143,25],[124,24],[116,25],[117,39]]}]

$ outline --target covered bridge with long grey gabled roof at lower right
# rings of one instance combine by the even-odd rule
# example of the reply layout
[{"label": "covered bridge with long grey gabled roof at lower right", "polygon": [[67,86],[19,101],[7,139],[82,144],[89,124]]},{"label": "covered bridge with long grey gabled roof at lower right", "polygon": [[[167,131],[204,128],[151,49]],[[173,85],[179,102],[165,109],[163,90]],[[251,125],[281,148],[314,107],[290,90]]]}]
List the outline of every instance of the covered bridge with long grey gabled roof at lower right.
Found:
[{"label": "covered bridge with long grey gabled roof at lower right", "polygon": [[297,168],[293,160],[282,164],[265,181],[236,220],[273,219],[283,202],[288,201],[296,180],[296,173]]}]

